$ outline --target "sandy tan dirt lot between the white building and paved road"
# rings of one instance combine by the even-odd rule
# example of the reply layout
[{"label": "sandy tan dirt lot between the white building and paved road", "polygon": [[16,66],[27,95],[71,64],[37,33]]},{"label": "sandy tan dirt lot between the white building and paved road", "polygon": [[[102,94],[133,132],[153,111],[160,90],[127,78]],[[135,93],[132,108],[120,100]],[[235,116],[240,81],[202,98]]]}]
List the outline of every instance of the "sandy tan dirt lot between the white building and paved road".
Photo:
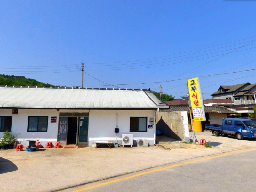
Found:
[{"label": "sandy tan dirt lot between the white building and paved road", "polygon": [[214,137],[211,132],[196,133],[196,138],[205,139],[213,147],[160,143],[159,146],[151,147],[111,149],[40,148],[37,152],[0,150],[0,191],[60,189],[195,157],[253,148],[256,144],[255,140]]}]

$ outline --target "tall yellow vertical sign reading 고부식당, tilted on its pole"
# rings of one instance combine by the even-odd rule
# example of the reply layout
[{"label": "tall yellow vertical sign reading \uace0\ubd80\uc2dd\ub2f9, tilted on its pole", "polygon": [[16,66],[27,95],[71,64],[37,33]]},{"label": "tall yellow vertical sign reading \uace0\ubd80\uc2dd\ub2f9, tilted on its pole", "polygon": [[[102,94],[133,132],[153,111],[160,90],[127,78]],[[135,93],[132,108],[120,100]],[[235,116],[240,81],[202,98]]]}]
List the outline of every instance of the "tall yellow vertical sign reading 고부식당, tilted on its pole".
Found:
[{"label": "tall yellow vertical sign reading \uace0\ubd80\uc2dd\ub2f9, tilted on its pole", "polygon": [[204,103],[199,79],[197,77],[188,79],[188,92],[194,121],[205,121]]}]

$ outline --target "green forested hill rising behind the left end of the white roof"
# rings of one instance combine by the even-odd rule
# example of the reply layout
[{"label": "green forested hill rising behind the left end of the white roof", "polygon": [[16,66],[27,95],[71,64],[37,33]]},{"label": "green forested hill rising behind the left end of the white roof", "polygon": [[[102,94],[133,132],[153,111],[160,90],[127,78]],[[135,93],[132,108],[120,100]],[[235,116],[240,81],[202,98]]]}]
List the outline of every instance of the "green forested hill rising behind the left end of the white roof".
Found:
[{"label": "green forested hill rising behind the left end of the white roof", "polygon": [[24,76],[4,75],[0,74],[0,85],[15,85],[15,86],[40,86],[40,87],[55,87],[48,83],[42,83],[35,79],[27,79]]}]

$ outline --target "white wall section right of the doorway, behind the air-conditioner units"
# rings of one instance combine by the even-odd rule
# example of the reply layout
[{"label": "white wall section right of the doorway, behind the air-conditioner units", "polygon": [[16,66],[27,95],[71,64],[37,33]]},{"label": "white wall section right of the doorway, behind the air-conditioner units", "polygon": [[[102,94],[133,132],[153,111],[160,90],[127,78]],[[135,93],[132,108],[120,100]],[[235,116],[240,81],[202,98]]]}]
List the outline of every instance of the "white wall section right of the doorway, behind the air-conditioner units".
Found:
[{"label": "white wall section right of the doorway, behind the air-conditioner units", "polygon": [[[117,115],[116,115],[117,114]],[[133,134],[134,145],[138,139],[147,139],[149,145],[154,145],[156,133],[155,110],[90,110],[88,146],[94,141],[112,140],[116,143],[116,118],[119,133],[118,143],[122,143],[122,134]],[[148,117],[147,132],[130,132],[130,117]],[[154,118],[153,129],[148,129],[149,118]]]}]

